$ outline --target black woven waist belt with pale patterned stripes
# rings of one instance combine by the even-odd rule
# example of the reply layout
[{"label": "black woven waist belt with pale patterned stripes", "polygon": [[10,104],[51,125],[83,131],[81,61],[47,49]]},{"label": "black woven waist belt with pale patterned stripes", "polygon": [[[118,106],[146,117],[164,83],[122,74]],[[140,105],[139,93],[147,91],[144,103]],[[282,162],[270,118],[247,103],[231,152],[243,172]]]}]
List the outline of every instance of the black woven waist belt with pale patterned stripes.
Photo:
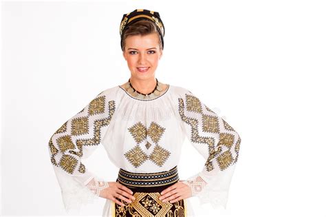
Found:
[{"label": "black woven waist belt with pale patterned stripes", "polygon": [[177,166],[169,171],[155,173],[132,173],[124,169],[119,170],[118,180],[123,185],[132,187],[156,187],[177,183],[179,176],[177,174]]}]

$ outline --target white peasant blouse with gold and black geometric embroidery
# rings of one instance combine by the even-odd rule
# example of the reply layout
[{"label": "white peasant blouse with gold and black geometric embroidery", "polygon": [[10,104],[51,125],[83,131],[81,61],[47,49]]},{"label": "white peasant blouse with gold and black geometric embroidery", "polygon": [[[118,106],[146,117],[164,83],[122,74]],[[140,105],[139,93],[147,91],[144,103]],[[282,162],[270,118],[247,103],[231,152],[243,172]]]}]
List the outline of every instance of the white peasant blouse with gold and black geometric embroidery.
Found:
[{"label": "white peasant blouse with gold and black geometric embroidery", "polygon": [[[206,159],[186,180],[201,204],[226,208],[239,155],[235,130],[184,87],[168,85],[154,99],[131,96],[120,85],[103,90],[54,132],[49,152],[66,211],[94,203],[107,182],[83,164],[101,143],[110,161],[129,172],[167,171],[178,165],[184,138]],[[188,198],[188,216],[193,214]],[[103,216],[113,202],[106,200]]]}]

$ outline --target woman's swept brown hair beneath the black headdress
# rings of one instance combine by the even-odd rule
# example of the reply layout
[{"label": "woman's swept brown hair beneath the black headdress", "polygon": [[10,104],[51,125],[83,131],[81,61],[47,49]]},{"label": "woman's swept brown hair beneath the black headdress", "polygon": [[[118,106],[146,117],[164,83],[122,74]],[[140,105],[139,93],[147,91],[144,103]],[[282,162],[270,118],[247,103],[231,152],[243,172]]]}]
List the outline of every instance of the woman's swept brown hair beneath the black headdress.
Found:
[{"label": "woman's swept brown hair beneath the black headdress", "polygon": [[157,29],[157,26],[155,25],[155,23],[153,23],[153,21],[149,21],[149,20],[145,20],[142,19],[140,21],[137,21],[131,25],[128,25],[128,27],[124,30],[123,36],[122,36],[122,50],[124,50],[125,46],[126,46],[126,42],[125,40],[127,39],[127,37],[129,36],[133,36],[133,35],[147,35],[147,34],[151,34],[153,32],[157,33],[157,37],[159,39],[159,43],[160,43],[160,49],[162,50],[162,39],[160,37],[160,30]]}]

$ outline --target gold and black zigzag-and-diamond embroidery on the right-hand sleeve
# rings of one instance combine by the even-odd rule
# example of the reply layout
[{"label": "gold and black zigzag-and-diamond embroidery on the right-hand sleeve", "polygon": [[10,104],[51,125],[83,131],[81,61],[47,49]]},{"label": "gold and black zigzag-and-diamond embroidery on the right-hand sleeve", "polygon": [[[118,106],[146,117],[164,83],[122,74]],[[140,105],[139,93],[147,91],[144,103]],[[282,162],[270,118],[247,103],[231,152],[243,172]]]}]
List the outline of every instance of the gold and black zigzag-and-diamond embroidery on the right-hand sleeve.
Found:
[{"label": "gold and black zigzag-and-diamond embroidery on the right-hand sleeve", "polygon": [[[217,116],[191,92],[188,93],[185,94],[185,97],[178,99],[178,110],[182,121],[191,127],[189,131],[191,132],[189,135],[191,142],[207,145],[206,171],[209,172],[214,169],[214,159],[216,159],[219,169],[224,170],[237,162],[241,138],[223,118]],[[202,107],[205,107],[208,112],[213,112],[213,114],[204,114]],[[202,126],[199,123],[202,123]],[[202,136],[201,132],[206,132],[209,136]],[[237,135],[237,141],[235,141],[235,135]],[[226,149],[224,152],[222,147]]]}]

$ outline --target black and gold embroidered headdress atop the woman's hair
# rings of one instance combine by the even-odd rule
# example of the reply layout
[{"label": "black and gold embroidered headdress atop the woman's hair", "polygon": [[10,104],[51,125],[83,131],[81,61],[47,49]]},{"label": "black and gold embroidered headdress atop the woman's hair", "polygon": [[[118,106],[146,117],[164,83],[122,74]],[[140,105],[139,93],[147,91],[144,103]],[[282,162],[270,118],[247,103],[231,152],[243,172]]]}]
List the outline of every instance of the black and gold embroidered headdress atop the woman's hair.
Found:
[{"label": "black and gold embroidered headdress atop the woman's hair", "polygon": [[133,12],[129,12],[128,14],[123,14],[121,23],[120,23],[120,37],[121,37],[121,49],[122,49],[122,37],[124,34],[124,30],[127,29],[128,25],[135,23],[136,21],[140,21],[141,19],[148,19],[153,21],[155,25],[157,25],[159,29],[159,34],[162,41],[162,49],[164,48],[163,37],[165,34],[164,24],[162,19],[160,18],[160,14],[158,12],[146,9],[136,9]]}]

